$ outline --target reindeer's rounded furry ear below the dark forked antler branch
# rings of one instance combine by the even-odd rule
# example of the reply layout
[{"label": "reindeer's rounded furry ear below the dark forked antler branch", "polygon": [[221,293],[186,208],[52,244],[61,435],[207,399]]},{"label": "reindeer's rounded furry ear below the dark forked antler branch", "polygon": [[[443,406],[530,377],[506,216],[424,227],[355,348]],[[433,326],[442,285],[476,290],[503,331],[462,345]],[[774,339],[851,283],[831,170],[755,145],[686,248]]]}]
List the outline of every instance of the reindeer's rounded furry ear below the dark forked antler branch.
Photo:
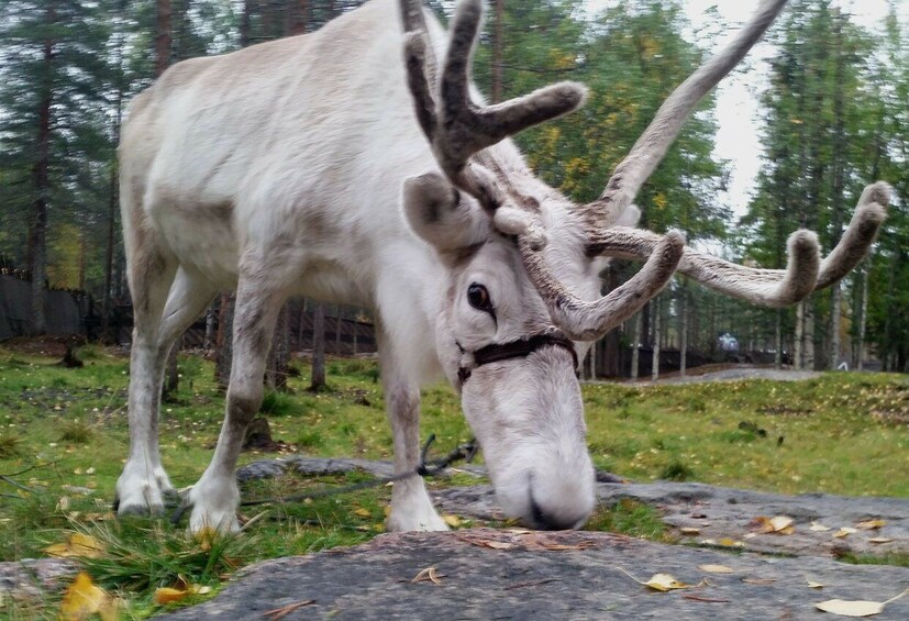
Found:
[{"label": "reindeer's rounded furry ear below the dark forked antler branch", "polygon": [[441,253],[473,246],[489,237],[489,215],[439,173],[407,179],[403,203],[411,229]]}]

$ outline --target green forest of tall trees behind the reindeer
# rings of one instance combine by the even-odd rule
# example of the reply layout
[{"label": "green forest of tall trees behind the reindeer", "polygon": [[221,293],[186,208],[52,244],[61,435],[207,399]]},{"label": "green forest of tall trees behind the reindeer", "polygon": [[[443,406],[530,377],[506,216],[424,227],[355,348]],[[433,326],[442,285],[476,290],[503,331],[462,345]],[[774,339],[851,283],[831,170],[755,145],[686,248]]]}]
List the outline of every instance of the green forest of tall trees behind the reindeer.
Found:
[{"label": "green forest of tall trees behind the reindeer", "polygon": [[[0,270],[31,282],[29,333],[46,330],[46,287],[89,295],[102,325],[113,306],[129,300],[117,144],[131,98],[181,59],[312,32],[361,3],[4,0]],[[710,52],[691,36],[705,24],[688,23],[676,0],[611,2],[598,11],[584,0],[487,4],[474,73],[489,100],[557,79],[590,88],[581,111],[517,137],[537,173],[577,201],[599,195],[665,97]],[[444,21],[453,2],[429,5]],[[790,0],[768,35],[768,80],[757,93],[763,157],[746,212],[736,215],[721,202],[730,165],[714,154],[716,99],[688,122],[638,197],[642,226],[678,229],[739,263],[783,267],[791,231],[817,231],[829,252],[862,188],[883,179],[895,198],[873,254],[838,287],[778,311],[677,277],[605,339],[599,373],[618,374],[617,353],[635,343],[655,359],[661,348],[678,351],[684,368],[686,352],[716,357],[721,334],[734,335],[742,351],[797,368],[874,362],[909,370],[907,35],[909,23],[894,4],[868,27],[841,3]],[[632,268],[610,266],[605,287]]]}]

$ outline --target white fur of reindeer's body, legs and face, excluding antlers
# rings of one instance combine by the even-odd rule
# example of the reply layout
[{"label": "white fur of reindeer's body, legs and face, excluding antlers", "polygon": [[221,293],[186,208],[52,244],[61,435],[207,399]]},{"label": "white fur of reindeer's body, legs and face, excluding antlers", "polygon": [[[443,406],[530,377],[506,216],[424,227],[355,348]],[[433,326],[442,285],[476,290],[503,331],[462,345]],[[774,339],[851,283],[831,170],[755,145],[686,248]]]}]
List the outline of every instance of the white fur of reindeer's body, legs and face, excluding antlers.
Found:
[{"label": "white fur of reindeer's body, legs and face, excluding antlers", "polygon": [[[431,30],[443,47],[439,25]],[[374,0],[312,35],[180,63],[133,102],[120,148],[136,308],[121,513],[159,510],[170,487],[156,429],[164,361],[219,289],[237,288],[234,363],[218,448],[188,497],[195,531],[236,528],[239,447],[289,296],[375,309],[398,472],[419,458],[420,386],[444,373],[459,388],[456,343],[478,348],[552,330],[517,247],[492,225],[474,221],[468,237],[479,243],[458,258],[407,224],[404,180],[439,168],[412,112],[402,38],[396,0]],[[533,177],[509,141],[490,154],[541,209],[539,223],[508,225],[542,226],[554,273],[596,299],[596,265],[570,203]],[[474,209],[470,218],[489,217]],[[496,321],[467,304],[474,281],[488,288]],[[592,467],[566,352],[476,369],[463,407],[511,514],[532,521],[532,500],[551,525],[586,519]],[[388,523],[445,528],[419,479],[395,486]]]}]

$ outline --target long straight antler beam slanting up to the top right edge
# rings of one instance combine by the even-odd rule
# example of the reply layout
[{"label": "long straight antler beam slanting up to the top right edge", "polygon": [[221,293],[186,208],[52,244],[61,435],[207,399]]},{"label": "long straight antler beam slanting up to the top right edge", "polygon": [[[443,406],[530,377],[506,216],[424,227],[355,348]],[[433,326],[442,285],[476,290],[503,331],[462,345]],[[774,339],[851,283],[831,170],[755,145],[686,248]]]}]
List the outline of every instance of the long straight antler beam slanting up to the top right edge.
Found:
[{"label": "long straight antler beam slanting up to the top right edge", "polygon": [[764,0],[732,42],[677,87],[659,107],[628,156],[616,167],[603,193],[587,206],[599,220],[599,226],[613,224],[632,203],[698,102],[742,60],[785,4],[786,0]]}]

